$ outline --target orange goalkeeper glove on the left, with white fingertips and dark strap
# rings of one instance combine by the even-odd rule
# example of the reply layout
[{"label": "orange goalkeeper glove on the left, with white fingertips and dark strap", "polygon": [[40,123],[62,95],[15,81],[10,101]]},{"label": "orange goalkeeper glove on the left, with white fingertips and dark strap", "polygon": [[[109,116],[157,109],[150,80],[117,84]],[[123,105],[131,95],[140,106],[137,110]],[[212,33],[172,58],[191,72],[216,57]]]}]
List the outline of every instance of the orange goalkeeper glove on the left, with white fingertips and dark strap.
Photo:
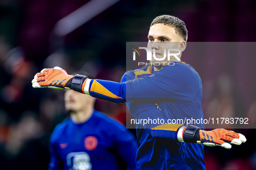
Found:
[{"label": "orange goalkeeper glove on the left, with white fingertips and dark strap", "polygon": [[83,93],[83,83],[87,76],[75,75],[71,76],[60,68],[54,67],[53,69],[42,69],[41,72],[36,73],[32,80],[33,88],[55,88],[55,89],[73,89]]}]

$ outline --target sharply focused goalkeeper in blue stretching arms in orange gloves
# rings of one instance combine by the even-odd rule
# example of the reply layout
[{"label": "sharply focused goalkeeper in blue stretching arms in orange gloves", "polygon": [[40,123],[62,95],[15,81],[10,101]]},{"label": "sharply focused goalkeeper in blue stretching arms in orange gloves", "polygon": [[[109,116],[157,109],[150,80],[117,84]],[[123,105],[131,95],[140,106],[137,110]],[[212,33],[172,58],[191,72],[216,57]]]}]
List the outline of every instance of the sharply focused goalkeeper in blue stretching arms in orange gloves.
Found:
[{"label": "sharply focused goalkeeper in blue stretching arms in orange gloves", "polygon": [[[162,58],[164,50],[159,42],[176,42],[173,48],[179,49],[182,54],[187,37],[183,21],[174,16],[158,16],[150,26],[148,38],[152,43],[148,47],[155,49],[156,57]],[[152,59],[152,63],[154,61]],[[175,65],[149,66],[126,72],[121,83],[71,76],[58,67],[43,69],[35,75],[32,86],[72,89],[108,101],[126,102],[135,119],[203,118],[202,84],[198,73],[175,57],[170,61]],[[199,126],[168,123],[137,125],[137,169],[204,170],[203,145],[198,144],[229,149],[230,143],[240,145],[246,142],[241,134],[225,129],[204,131],[203,125]]]}]

